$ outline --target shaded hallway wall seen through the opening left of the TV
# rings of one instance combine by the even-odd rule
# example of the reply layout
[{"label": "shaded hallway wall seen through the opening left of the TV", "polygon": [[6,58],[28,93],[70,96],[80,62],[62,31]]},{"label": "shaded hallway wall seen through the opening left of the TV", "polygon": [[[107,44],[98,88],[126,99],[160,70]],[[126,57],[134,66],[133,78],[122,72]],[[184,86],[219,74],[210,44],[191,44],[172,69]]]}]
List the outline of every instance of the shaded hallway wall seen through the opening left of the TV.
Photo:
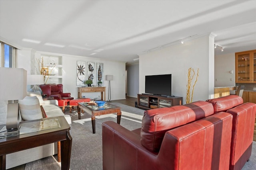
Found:
[{"label": "shaded hallway wall seen through the opening left of the TV", "polygon": [[139,93],[139,63],[126,66],[127,96],[137,98]]}]

